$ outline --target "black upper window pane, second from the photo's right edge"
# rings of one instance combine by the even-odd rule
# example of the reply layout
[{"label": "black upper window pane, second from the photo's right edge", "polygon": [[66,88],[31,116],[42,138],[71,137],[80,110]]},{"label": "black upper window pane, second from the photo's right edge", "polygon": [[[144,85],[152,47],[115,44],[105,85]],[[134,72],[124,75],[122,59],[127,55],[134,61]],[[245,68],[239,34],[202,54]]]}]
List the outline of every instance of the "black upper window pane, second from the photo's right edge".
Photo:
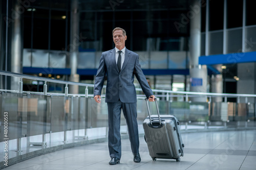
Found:
[{"label": "black upper window pane, second from the photo's right edge", "polygon": [[243,0],[227,0],[227,28],[242,27],[243,25]]}]

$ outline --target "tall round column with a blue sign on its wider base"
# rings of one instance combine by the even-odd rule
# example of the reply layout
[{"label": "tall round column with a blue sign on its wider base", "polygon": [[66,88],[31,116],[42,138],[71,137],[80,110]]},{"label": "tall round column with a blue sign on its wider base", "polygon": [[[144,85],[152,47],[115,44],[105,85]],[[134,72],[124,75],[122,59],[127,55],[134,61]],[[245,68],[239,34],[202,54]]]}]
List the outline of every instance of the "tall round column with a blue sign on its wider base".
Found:
[{"label": "tall round column with a blue sign on its wider base", "polygon": [[[191,1],[191,6],[201,7],[201,1]],[[192,12],[192,11],[191,11]],[[206,92],[207,91],[207,67],[199,65],[199,57],[201,53],[201,9],[193,12],[190,17],[190,91]],[[205,98],[190,99],[194,102],[205,102]]]}]

